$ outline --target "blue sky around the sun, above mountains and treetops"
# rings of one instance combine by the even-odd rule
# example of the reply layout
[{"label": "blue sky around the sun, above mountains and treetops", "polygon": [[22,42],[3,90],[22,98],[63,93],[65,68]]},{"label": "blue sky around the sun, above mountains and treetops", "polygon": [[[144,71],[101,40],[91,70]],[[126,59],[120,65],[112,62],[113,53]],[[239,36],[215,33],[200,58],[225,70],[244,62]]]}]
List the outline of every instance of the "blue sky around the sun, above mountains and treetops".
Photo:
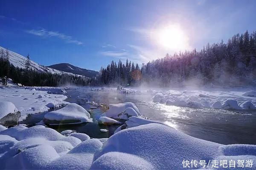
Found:
[{"label": "blue sky around the sun, above mountains and treetops", "polygon": [[182,50],[256,31],[255,0],[1,0],[0,46],[42,65],[99,71],[112,60],[148,62],[163,48],[154,30],[179,26]]}]

